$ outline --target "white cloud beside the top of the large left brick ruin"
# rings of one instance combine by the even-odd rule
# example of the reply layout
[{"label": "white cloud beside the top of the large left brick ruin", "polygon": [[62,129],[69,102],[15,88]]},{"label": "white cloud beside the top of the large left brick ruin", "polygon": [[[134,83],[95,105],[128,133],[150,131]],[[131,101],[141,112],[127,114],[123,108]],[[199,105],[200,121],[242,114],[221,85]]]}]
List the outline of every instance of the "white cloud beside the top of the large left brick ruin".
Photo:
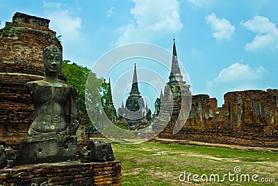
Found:
[{"label": "white cloud beside the top of the large left brick ruin", "polygon": [[68,10],[47,12],[52,30],[62,36],[64,42],[77,42],[81,39],[81,18],[72,17]]}]

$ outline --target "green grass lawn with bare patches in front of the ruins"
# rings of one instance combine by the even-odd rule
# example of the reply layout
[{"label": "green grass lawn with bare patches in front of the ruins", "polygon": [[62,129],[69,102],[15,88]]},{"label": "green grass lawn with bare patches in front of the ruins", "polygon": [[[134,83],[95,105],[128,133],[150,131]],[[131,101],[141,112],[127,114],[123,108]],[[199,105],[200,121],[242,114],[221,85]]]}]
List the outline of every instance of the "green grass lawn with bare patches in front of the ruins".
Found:
[{"label": "green grass lawn with bare patches in front of the ruins", "polygon": [[[122,162],[122,185],[278,185],[278,153],[159,142],[112,142],[112,146],[115,158]],[[240,166],[240,173],[235,173],[236,166]],[[186,178],[180,176],[184,171]],[[190,182],[189,173],[192,174]],[[223,178],[229,173],[230,180],[234,178],[234,181],[229,181],[229,176]],[[194,174],[199,175],[196,180],[208,176],[208,182],[194,182]],[[211,174],[218,174],[224,182],[210,182]],[[249,183],[245,174],[250,176]],[[254,177],[257,183],[252,180],[254,174],[258,175]],[[275,183],[262,183],[261,178],[275,178]]]}]

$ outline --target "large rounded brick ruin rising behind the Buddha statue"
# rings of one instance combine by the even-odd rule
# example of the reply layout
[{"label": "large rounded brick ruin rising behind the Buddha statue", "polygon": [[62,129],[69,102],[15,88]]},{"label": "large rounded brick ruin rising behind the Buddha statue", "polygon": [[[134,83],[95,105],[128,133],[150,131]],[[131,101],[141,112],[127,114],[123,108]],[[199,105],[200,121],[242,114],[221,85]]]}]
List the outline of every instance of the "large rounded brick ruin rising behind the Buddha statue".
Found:
[{"label": "large rounded brick ruin rising behind the Buddha statue", "polygon": [[[26,82],[44,76],[42,50],[56,45],[63,50],[49,20],[15,13],[0,29],[0,144],[17,150],[33,122],[34,108]],[[66,81],[61,73],[59,79]],[[85,119],[81,115],[81,125]]]}]

